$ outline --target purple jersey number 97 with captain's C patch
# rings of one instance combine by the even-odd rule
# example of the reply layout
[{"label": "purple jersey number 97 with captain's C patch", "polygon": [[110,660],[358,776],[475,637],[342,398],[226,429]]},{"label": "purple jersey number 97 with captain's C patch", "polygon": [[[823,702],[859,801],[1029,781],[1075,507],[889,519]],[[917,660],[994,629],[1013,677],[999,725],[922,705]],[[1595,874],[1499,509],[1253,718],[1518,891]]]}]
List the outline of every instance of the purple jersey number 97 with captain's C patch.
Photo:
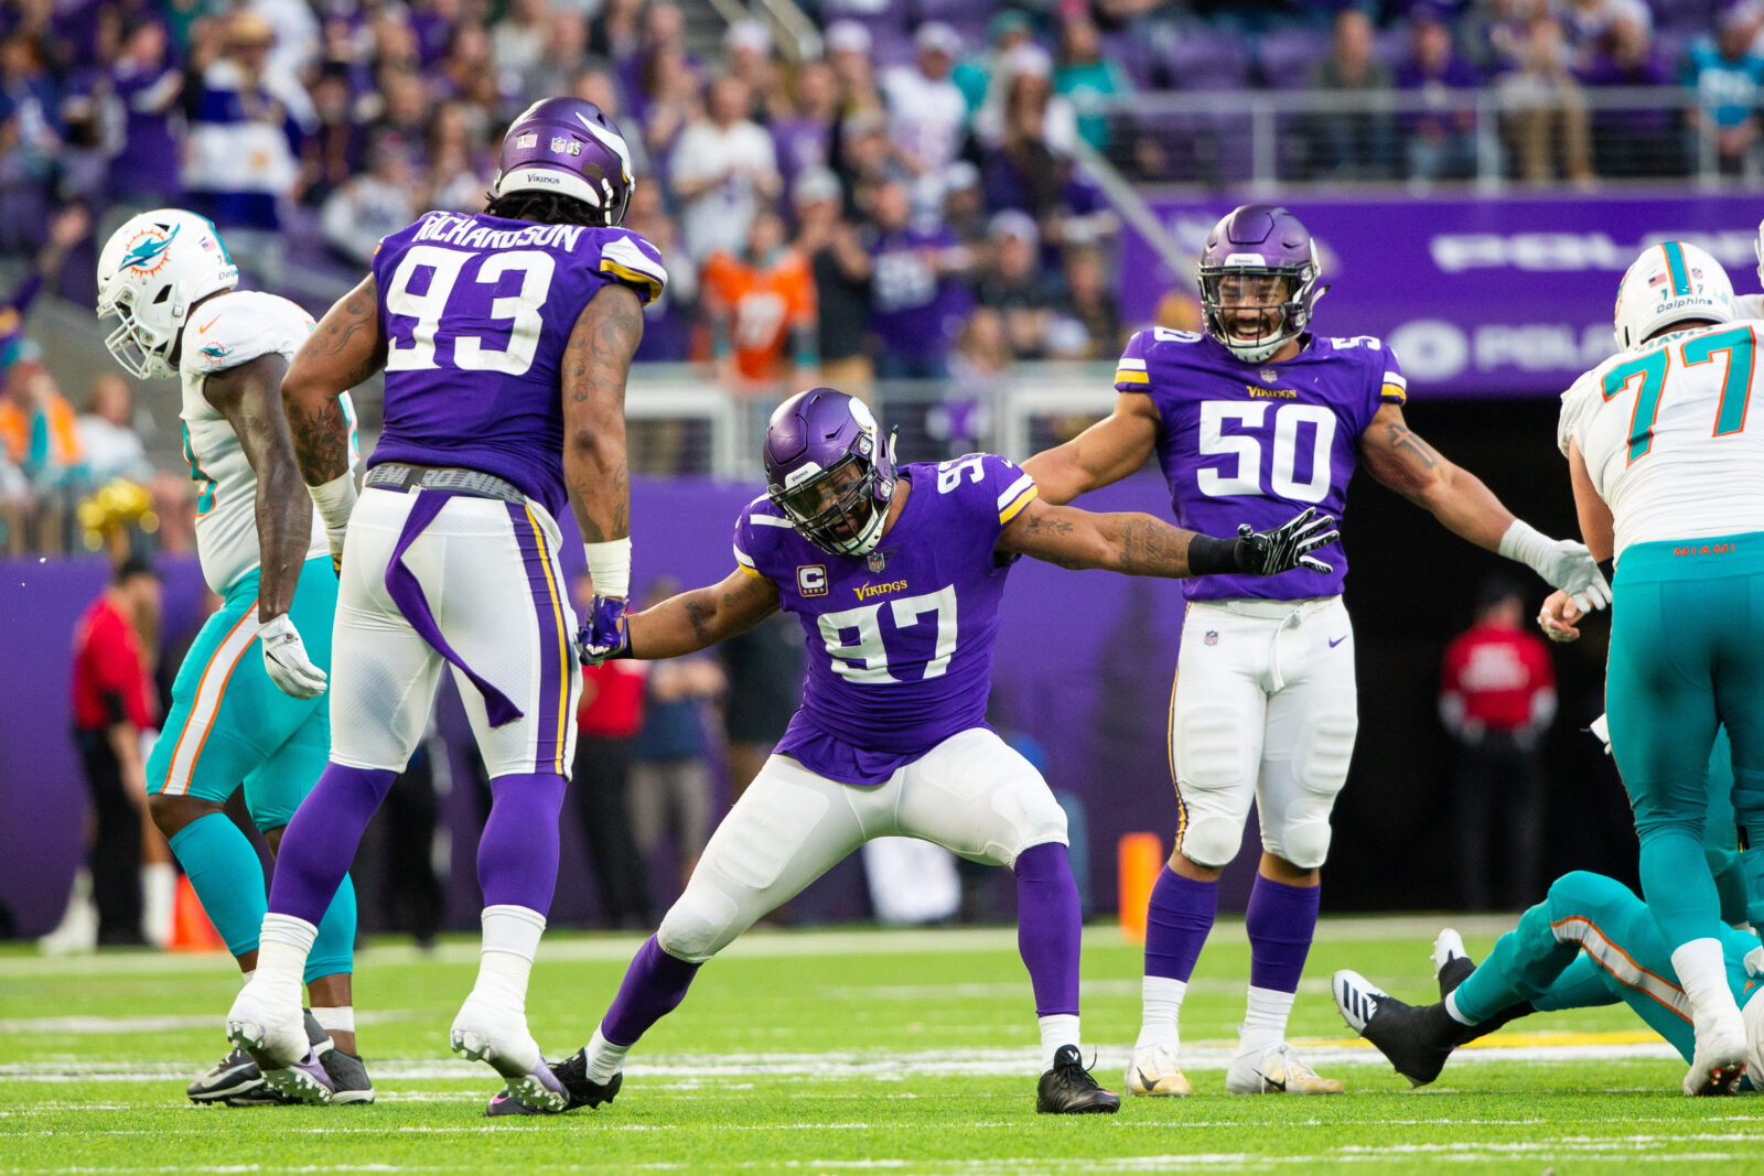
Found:
[{"label": "purple jersey number 97 with captain's C patch", "polygon": [[993,638],[1009,561],[993,548],[1035,481],[991,453],[900,469],[912,492],[868,557],[829,555],[759,497],[736,524],[736,561],[778,585],[803,622],[808,679],[780,755],[848,785],[986,725]]}]

